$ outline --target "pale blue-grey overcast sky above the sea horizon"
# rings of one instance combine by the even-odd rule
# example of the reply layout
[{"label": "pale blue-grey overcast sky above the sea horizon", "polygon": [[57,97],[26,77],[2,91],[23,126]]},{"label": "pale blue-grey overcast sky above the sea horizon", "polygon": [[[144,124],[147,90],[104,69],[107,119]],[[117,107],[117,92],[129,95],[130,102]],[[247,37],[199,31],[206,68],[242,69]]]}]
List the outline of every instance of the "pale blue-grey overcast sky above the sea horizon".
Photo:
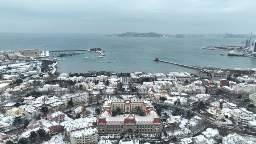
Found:
[{"label": "pale blue-grey overcast sky above the sea horizon", "polygon": [[0,0],[0,32],[256,34],[256,0]]}]

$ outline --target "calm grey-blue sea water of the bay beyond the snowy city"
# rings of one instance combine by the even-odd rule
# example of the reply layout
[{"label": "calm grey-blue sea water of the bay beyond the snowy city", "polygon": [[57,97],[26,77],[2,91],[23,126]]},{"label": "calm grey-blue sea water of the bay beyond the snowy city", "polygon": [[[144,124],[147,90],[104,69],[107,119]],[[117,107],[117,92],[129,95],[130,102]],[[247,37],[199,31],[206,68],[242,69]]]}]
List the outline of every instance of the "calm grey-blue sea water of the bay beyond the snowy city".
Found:
[{"label": "calm grey-blue sea water of the bay beyond the snowy city", "polygon": [[[221,56],[228,51],[205,50],[205,46],[244,45],[244,38],[221,37],[185,37],[185,38],[126,38],[107,37],[103,34],[36,34],[36,33],[0,33],[0,50],[16,50],[39,48],[40,50],[82,50],[102,48],[106,52],[104,58],[99,53],[81,52],[84,54],[62,58],[58,61],[58,72],[193,72],[180,66],[157,63],[154,58],[176,62],[179,64],[196,65],[215,68],[255,68],[256,59],[246,57]],[[164,42],[164,43],[162,43]],[[84,59],[84,57],[89,57]],[[92,57],[96,57],[93,59]],[[117,61],[118,60],[118,61]],[[110,63],[108,63],[110,62]],[[120,62],[120,63],[119,63]],[[134,63],[136,62],[136,63]]]}]

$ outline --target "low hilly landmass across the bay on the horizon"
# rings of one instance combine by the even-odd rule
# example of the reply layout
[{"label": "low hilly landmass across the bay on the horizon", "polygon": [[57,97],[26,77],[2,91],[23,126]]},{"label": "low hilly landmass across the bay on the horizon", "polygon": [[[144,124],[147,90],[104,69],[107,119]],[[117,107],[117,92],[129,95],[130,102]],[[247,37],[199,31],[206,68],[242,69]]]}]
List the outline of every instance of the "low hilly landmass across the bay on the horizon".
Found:
[{"label": "low hilly landmass across the bay on the horizon", "polygon": [[149,33],[138,33],[138,32],[126,32],[123,34],[112,34],[107,36],[118,36],[118,37],[169,37],[163,34],[157,34],[155,32]]}]

